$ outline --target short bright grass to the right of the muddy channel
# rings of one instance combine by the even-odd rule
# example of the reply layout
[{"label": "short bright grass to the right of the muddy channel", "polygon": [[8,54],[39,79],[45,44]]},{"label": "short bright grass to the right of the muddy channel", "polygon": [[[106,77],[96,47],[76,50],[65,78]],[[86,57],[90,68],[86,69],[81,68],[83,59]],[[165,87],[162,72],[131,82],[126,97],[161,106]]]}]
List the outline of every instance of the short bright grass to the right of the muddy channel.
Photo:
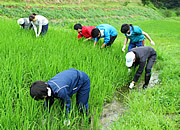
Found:
[{"label": "short bright grass to the right of the muddy channel", "polygon": [[179,22],[148,21],[135,23],[156,43],[156,70],[161,83],[147,91],[134,90],[127,97],[128,111],[116,121],[116,129],[178,129],[179,128],[179,81],[180,37]]}]

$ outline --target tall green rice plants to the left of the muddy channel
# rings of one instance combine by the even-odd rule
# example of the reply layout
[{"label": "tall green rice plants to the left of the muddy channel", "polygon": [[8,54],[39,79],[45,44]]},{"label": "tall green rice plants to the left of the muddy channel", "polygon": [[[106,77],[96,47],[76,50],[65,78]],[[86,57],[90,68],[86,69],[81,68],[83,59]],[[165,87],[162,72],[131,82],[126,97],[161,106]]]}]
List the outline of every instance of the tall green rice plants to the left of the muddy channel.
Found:
[{"label": "tall green rice plants to the left of the muddy channel", "polygon": [[[103,102],[110,101],[115,89],[128,81],[121,45],[115,41],[111,48],[100,50],[102,41],[93,48],[93,41],[78,41],[74,30],[51,26],[45,37],[36,38],[33,30],[20,30],[15,20],[0,21],[3,32],[0,34],[0,127],[64,128],[59,102],[46,115],[43,102],[31,99],[29,88],[32,82],[48,81],[69,68],[82,70],[90,77],[89,106],[94,128],[98,127]],[[42,123],[44,116],[47,116],[45,125]],[[72,118],[73,121],[78,124],[78,116]]]}]

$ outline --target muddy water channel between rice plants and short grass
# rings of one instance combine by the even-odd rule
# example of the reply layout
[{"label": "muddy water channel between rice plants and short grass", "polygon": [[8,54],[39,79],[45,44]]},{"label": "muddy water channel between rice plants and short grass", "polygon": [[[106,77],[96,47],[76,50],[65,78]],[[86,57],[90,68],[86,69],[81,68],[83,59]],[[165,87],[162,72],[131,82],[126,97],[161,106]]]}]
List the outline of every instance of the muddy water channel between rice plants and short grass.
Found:
[{"label": "muddy water channel between rice plants and short grass", "polygon": [[[154,85],[158,84],[160,81],[158,79],[158,73],[155,71],[152,73],[148,88],[152,88]],[[141,91],[144,81],[136,85],[135,89]],[[129,88],[128,86],[121,87],[115,92],[114,99],[110,103],[105,103],[103,107],[103,112],[100,119],[100,124],[102,125],[102,130],[108,129],[113,121],[119,119],[126,111],[126,107],[123,104],[124,98],[128,95]]]}]

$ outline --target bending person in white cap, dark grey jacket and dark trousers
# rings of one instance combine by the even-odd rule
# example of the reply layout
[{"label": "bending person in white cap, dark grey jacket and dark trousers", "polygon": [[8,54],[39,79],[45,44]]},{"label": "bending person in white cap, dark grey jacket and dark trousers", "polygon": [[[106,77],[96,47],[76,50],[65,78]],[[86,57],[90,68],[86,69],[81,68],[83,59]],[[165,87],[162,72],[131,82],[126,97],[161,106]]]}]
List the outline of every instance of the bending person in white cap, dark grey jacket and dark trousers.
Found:
[{"label": "bending person in white cap, dark grey jacket and dark trousers", "polygon": [[[127,67],[132,67],[132,66],[138,66],[139,68],[136,71],[136,74],[134,76],[133,81],[131,82],[129,88],[133,88],[134,84],[138,81],[139,77],[141,76],[144,67],[145,68],[145,84],[143,85],[143,89],[146,89],[149,80],[151,77],[151,68],[156,61],[156,51],[151,48],[151,47],[137,47],[131,49],[127,54],[126,54],[126,66]],[[147,61],[147,64],[146,64]]]}]

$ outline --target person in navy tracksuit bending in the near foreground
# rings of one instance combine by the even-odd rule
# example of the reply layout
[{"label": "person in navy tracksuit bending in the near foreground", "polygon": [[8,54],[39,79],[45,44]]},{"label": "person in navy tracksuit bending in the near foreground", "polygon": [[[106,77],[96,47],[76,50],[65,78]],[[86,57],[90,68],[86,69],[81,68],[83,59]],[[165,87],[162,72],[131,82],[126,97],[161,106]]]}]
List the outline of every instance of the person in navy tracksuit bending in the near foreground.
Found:
[{"label": "person in navy tracksuit bending in the near foreground", "polygon": [[87,114],[89,92],[88,75],[73,68],[60,72],[47,82],[35,81],[30,88],[31,97],[35,100],[46,99],[44,107],[49,106],[49,110],[54,103],[54,98],[61,100],[62,105],[66,107],[66,115],[71,111],[70,97],[75,93],[77,93],[76,103],[80,112]]}]

